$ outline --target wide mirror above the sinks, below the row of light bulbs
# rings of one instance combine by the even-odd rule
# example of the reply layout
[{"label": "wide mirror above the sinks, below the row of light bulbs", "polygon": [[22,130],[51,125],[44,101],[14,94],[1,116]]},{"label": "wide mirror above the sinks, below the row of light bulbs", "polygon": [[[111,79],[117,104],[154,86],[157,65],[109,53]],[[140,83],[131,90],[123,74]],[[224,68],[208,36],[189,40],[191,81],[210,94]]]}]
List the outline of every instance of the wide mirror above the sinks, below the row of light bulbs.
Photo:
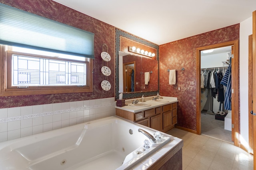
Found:
[{"label": "wide mirror above the sinks, below the row of light bulbs", "polygon": [[[119,63],[119,92],[158,90],[158,61],[120,52]],[[145,80],[145,72],[149,74],[148,83],[147,78]]]}]

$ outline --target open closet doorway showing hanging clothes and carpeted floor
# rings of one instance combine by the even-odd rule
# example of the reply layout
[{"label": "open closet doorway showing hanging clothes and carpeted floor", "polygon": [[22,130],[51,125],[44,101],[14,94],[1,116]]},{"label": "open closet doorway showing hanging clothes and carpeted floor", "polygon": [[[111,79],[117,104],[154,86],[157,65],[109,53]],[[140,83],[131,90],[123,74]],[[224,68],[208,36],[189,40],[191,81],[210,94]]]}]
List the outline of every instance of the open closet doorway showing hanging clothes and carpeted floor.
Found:
[{"label": "open closet doorway showing hanging clothes and carpeted floor", "polygon": [[[201,134],[232,142],[231,110],[225,109],[226,86],[220,84],[232,57],[232,47],[201,51]],[[231,90],[231,89],[230,89]],[[228,92],[228,90],[227,90]],[[231,107],[230,107],[231,109]]]}]

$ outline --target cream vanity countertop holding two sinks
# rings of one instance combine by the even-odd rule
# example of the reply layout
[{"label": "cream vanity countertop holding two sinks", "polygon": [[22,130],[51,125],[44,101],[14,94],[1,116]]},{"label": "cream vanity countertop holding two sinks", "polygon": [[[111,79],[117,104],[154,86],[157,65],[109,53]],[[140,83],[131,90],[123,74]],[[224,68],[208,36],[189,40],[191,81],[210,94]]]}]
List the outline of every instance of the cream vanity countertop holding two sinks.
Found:
[{"label": "cream vanity countertop holding two sinks", "polygon": [[[128,106],[118,107],[115,104],[115,107],[118,108],[118,109],[122,109],[122,110],[126,110],[126,111],[137,113],[137,112],[148,110],[148,109],[152,109],[152,108],[155,108],[155,107],[164,106],[166,104],[171,104],[171,103],[178,102],[178,98],[176,98],[176,97],[167,97],[167,96],[162,96],[162,98],[165,99],[165,100],[168,100],[169,102],[159,102],[159,103],[158,102],[152,102],[152,98],[153,97],[154,96],[146,97],[146,102],[144,102],[144,103],[147,103],[147,104],[151,104],[151,106],[147,106],[147,107],[134,107],[134,106],[128,105]],[[139,103],[141,103],[141,98],[137,98],[137,99],[140,101]],[[131,104],[132,100],[136,100],[136,99],[125,100],[125,103]]]}]

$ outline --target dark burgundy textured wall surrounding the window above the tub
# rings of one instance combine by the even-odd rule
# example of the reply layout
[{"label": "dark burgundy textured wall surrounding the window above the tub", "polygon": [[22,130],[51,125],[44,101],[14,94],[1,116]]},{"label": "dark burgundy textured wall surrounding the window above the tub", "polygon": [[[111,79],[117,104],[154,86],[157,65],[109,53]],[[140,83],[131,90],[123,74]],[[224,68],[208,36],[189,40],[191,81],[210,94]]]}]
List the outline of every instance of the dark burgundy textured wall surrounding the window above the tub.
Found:
[{"label": "dark burgundy textured wall surrounding the window above the tub", "polygon": [[[113,26],[96,20],[75,10],[72,10],[71,8],[58,4],[52,0],[0,0],[0,3],[24,11],[28,11],[39,16],[43,16],[51,20],[56,20],[74,27],[78,27],[80,29],[84,29],[95,34],[95,63],[93,78],[94,91],[92,93],[0,97],[0,108],[114,97],[115,28]],[[102,82],[102,59],[100,57],[100,53],[102,52],[103,43],[106,43],[108,45],[108,53],[111,56],[111,60],[108,62],[108,67],[111,69],[112,72],[112,74],[108,76],[108,81],[111,84],[111,89],[107,92],[105,91],[104,93],[100,85],[100,83]],[[104,80],[106,80],[106,76],[104,76]]]}]

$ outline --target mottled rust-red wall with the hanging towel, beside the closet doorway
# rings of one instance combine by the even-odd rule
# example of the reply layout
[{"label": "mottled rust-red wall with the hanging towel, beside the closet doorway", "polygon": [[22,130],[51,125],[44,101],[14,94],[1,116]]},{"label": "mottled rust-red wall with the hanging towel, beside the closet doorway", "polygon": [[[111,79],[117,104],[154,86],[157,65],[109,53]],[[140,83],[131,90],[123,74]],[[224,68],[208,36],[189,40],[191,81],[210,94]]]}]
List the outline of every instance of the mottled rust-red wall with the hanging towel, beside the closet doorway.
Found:
[{"label": "mottled rust-red wall with the hanging towel, beside the closet doorway", "polygon": [[[231,25],[159,46],[160,95],[178,97],[178,125],[196,130],[196,48],[239,39],[240,24]],[[167,69],[176,71],[176,85],[169,85]],[[181,91],[178,91],[180,86]]]}]

